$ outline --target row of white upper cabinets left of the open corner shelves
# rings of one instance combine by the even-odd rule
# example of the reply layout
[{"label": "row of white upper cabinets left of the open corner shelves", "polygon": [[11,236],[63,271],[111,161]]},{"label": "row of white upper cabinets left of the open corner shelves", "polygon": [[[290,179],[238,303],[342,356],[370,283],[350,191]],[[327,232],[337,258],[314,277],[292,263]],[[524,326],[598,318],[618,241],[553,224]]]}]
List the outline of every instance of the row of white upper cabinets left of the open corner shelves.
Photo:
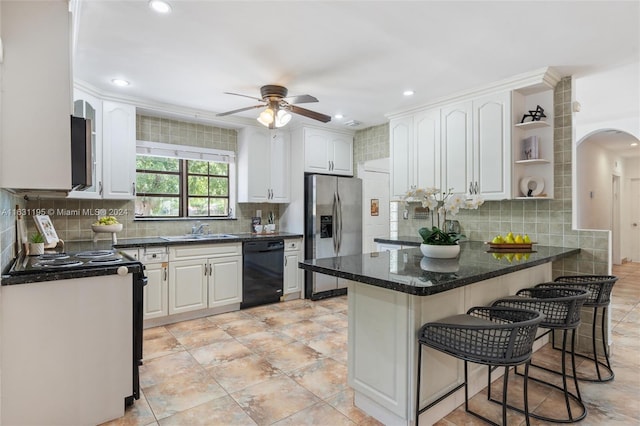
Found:
[{"label": "row of white upper cabinets left of the open corner shelves", "polygon": [[392,197],[435,187],[487,200],[510,198],[510,117],[505,91],[392,119]]}]

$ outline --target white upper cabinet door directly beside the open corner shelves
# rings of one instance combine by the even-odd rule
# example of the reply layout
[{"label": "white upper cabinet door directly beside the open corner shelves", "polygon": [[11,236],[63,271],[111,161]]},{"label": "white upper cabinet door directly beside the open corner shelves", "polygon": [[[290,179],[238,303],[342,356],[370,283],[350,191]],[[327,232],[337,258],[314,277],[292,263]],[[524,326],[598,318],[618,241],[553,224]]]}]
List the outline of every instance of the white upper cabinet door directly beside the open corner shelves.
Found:
[{"label": "white upper cabinet door directly beside the open corner shelves", "polygon": [[486,200],[510,198],[511,95],[473,101],[473,180]]}]

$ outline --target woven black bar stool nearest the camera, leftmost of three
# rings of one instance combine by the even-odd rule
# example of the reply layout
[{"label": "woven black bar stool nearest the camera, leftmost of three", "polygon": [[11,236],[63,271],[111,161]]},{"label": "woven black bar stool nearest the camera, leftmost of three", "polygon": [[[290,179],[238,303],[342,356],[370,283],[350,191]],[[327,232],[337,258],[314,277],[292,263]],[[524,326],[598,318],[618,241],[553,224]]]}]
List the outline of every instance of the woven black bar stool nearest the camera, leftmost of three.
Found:
[{"label": "woven black bar stool nearest the camera, leftmost of three", "polygon": [[[525,377],[529,372],[529,360],[538,324],[542,314],[530,309],[510,307],[474,307],[466,314],[454,315],[422,326],[418,334],[418,390],[416,392],[416,426],[421,413],[433,407],[464,386],[465,410],[493,425],[486,417],[469,409],[467,362],[505,367],[502,396],[502,424],[507,424],[507,384],[509,367],[525,364]],[[464,361],[464,383],[438,398],[424,408],[420,408],[420,380],[422,366],[422,346],[428,346]],[[526,395],[526,381],[525,392]],[[524,399],[524,414],[529,424],[529,406]]]}]

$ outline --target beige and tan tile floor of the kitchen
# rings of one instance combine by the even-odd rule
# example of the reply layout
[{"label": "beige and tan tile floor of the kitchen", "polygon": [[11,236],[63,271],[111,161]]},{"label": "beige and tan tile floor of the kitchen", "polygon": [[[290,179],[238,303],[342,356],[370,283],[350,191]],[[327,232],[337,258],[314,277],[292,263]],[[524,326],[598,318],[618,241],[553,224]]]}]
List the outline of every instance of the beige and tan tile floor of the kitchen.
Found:
[{"label": "beige and tan tile floor of the kitchen", "polygon": [[[589,410],[581,425],[640,424],[640,264],[614,267],[614,274],[620,278],[611,314],[616,378],[580,383]],[[353,406],[347,385],[346,297],[295,300],[184,321],[145,330],[144,339],[143,395],[109,425],[380,424]],[[558,351],[547,345],[535,359],[557,365]],[[512,379],[510,401],[521,399],[521,386],[520,378]],[[499,386],[493,392],[500,397]],[[563,407],[555,391],[534,384],[529,392],[534,412]],[[487,402],[485,392],[471,404],[500,421],[499,406]],[[438,422],[476,424],[483,423],[464,407]],[[524,417],[510,413],[509,424],[524,424]]]}]

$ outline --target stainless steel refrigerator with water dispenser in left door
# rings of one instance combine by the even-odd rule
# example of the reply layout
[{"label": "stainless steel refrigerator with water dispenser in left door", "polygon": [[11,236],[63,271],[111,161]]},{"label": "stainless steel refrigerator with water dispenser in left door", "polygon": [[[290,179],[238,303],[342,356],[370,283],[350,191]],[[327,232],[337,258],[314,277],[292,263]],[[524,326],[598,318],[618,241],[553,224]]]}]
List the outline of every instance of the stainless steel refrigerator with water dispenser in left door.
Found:
[{"label": "stainless steel refrigerator with water dispenser in left door", "polygon": [[[362,180],[305,176],[305,258],[362,253]],[[305,272],[305,295],[312,300],[346,293],[346,280]]]}]

